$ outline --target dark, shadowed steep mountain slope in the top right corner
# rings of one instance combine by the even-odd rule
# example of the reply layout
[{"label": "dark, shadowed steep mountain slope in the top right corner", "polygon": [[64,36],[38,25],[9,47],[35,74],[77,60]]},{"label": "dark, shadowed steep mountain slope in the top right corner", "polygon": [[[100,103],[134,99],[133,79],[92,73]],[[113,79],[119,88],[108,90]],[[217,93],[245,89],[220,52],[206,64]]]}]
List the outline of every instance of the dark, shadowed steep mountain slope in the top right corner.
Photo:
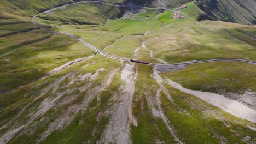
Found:
[{"label": "dark, shadowed steep mountain slope in the top right corner", "polygon": [[197,0],[207,14],[206,19],[236,22],[245,25],[256,23],[255,0]]}]

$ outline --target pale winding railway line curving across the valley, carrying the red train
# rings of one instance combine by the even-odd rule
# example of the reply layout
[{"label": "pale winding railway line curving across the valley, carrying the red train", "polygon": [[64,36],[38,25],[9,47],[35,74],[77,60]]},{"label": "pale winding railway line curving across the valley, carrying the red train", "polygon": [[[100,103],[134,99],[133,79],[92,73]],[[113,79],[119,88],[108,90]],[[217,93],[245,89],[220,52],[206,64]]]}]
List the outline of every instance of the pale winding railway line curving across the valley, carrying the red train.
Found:
[{"label": "pale winding railway line curving across the valley, carrying the red train", "polygon": [[[62,5],[60,7],[55,7],[53,9],[49,9],[47,11],[44,11],[42,13],[38,13],[37,15],[33,16],[32,18],[32,22],[34,25],[40,27],[41,29],[43,29],[44,31],[47,31],[47,32],[51,32],[51,33],[61,33],[61,34],[64,34],[64,35],[68,35],[69,37],[72,37],[74,39],[77,39],[78,41],[80,41],[80,43],[83,43],[84,45],[90,47],[91,49],[95,50],[96,52],[100,53],[101,55],[103,56],[106,56],[106,57],[109,57],[109,58],[112,58],[112,59],[117,59],[119,61],[124,61],[124,62],[131,62],[129,59],[124,59],[124,58],[119,58],[119,57],[114,57],[114,56],[110,56],[108,55],[107,53],[104,53],[100,50],[98,50],[95,46],[89,44],[89,43],[86,43],[85,41],[75,37],[74,35],[72,34],[69,34],[69,33],[64,33],[64,32],[56,32],[56,31],[50,31],[46,28],[43,28],[42,26],[40,26],[38,23],[34,22],[34,19],[40,15],[40,14],[43,14],[43,13],[47,13],[51,10],[54,10],[54,9],[57,9],[57,8],[61,8],[61,7],[65,7],[67,5],[73,5],[73,4],[77,4],[77,3],[82,3],[82,2],[98,2],[98,3],[104,3],[104,4],[108,4],[108,5],[112,5],[112,6],[115,6],[115,7],[124,7],[124,6],[120,6],[120,5],[114,5],[114,4],[109,4],[109,3],[105,3],[105,2],[100,2],[100,1],[80,1],[80,2],[76,2],[76,3],[71,3],[71,4],[66,4],[66,5]],[[144,8],[147,8],[147,9],[165,9],[165,10],[170,10],[170,11],[173,11],[171,9],[166,9],[166,8],[149,8],[149,7],[144,7]],[[188,17],[188,16],[187,16]],[[194,21],[193,19],[191,19],[189,17],[190,20]],[[195,22],[195,21],[194,21]],[[256,62],[254,61],[247,61],[247,60],[244,60],[244,59],[209,59],[209,60],[206,60],[206,61],[197,61],[197,62],[184,62],[184,63],[174,63],[174,64],[154,64],[154,63],[149,63],[147,65],[162,65],[162,66],[175,66],[175,65],[188,65],[188,64],[195,64],[195,63],[208,63],[208,62],[247,62],[247,63],[253,63],[253,64],[256,64]]]}]

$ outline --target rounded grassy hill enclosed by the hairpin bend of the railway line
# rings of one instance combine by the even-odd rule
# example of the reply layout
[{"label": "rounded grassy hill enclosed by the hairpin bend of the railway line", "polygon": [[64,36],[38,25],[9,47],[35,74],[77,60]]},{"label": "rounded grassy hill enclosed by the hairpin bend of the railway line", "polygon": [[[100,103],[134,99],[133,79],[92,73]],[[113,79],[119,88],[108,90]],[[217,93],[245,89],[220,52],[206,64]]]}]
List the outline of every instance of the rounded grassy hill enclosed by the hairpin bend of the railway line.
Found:
[{"label": "rounded grassy hill enclosed by the hairpin bend of the railway line", "polygon": [[108,19],[117,19],[122,15],[123,11],[118,7],[102,3],[82,3],[55,9],[40,17],[44,17],[45,20],[61,21],[64,24],[104,25]]}]

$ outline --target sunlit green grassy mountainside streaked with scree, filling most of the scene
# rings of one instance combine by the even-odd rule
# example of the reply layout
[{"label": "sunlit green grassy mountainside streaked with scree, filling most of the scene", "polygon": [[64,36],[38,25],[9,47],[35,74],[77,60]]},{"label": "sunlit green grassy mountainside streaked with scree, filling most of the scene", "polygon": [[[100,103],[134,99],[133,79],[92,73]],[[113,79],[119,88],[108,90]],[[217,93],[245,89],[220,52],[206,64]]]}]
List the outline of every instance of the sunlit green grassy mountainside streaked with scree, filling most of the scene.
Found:
[{"label": "sunlit green grassy mountainside streaked with scree, filling most of the scene", "polygon": [[[32,24],[31,16],[61,3],[55,2],[0,5],[0,143],[255,142],[256,123],[228,111],[240,110],[240,104],[248,113],[255,111],[255,65],[201,63],[161,73],[150,65],[108,58]],[[196,20],[203,12],[194,2],[181,12]],[[121,17],[121,10],[83,2],[40,14],[35,22],[119,58],[150,63],[256,61],[255,26],[173,19],[172,11],[162,9]],[[183,92],[170,80],[238,98],[224,105],[226,110]]]}]

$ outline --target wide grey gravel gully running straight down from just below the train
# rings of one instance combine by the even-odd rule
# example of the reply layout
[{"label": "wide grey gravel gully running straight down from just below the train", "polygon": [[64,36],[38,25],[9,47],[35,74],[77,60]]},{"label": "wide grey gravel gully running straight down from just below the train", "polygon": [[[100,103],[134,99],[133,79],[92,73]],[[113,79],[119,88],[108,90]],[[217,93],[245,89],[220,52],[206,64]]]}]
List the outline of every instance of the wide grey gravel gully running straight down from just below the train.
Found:
[{"label": "wide grey gravel gully running straight down from just below the train", "polygon": [[132,99],[135,92],[134,82],[138,72],[134,72],[134,65],[126,64],[121,73],[121,79],[125,85],[121,86],[119,103],[113,106],[113,113],[106,130],[102,135],[101,142],[104,143],[132,143],[130,134],[130,123],[136,125],[132,116]]}]

